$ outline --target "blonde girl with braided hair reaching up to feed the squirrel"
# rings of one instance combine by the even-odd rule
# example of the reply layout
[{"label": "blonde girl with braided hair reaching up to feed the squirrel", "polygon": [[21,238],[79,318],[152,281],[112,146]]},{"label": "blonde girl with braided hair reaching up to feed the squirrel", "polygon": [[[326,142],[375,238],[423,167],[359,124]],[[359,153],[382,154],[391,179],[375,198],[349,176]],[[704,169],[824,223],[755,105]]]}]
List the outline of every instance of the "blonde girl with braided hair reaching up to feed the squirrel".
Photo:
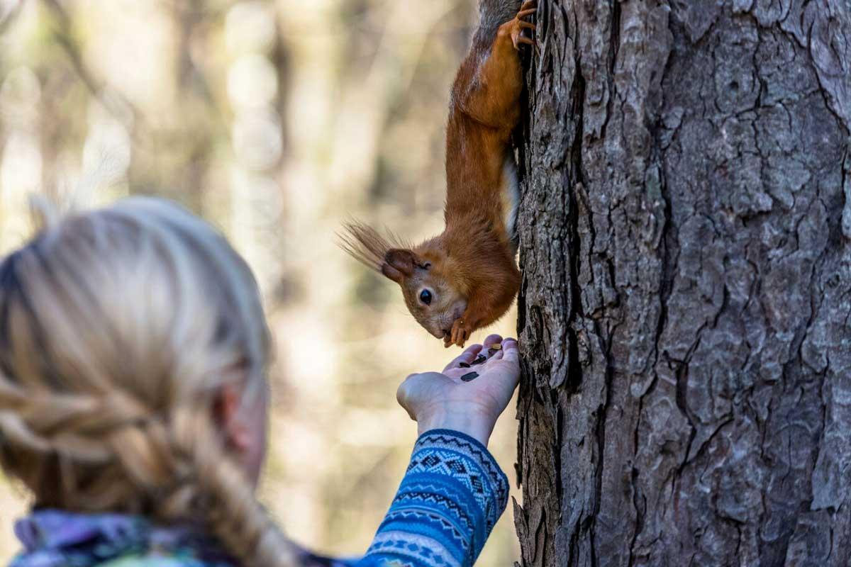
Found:
[{"label": "blonde girl with braided hair reaching up to feed the squirrel", "polygon": [[472,564],[507,498],[485,445],[517,343],[400,386],[420,439],[373,544],[338,562],[291,544],[254,498],[269,342],[248,266],[167,201],[66,218],[4,258],[0,464],[35,497],[12,565]]}]

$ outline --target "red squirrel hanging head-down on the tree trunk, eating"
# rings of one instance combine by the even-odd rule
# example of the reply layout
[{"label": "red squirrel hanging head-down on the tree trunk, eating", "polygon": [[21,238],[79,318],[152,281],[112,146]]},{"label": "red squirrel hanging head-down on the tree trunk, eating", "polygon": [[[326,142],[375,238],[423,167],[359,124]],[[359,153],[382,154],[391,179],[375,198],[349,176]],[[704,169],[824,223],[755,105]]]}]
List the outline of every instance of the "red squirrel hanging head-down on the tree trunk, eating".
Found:
[{"label": "red squirrel hanging head-down on the tree trunk, eating", "polygon": [[[483,1],[470,52],[458,70],[446,132],[447,197],[443,233],[410,247],[351,222],[342,247],[402,287],[411,315],[444,346],[464,346],[498,320],[520,288],[517,166],[511,131],[520,120],[521,45],[535,0]],[[506,21],[507,20],[507,21]]]}]

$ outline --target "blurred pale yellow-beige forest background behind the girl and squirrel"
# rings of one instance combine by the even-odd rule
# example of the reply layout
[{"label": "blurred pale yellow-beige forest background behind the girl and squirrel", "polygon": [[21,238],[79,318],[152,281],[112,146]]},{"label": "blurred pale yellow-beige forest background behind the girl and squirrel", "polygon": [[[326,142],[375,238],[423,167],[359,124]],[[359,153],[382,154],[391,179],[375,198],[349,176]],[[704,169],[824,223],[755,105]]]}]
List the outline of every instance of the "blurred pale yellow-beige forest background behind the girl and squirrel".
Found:
[{"label": "blurred pale yellow-beige forest background behind the girl and squirrel", "polygon": [[[277,342],[260,497],[323,553],[368,546],[416,436],[397,384],[457,354],[334,232],[349,215],[411,238],[441,230],[448,89],[475,8],[0,0],[0,252],[30,234],[33,193],[82,207],[152,193],[219,226],[254,268]],[[491,441],[511,478],[513,407]],[[0,477],[0,563],[26,507]],[[479,564],[517,556],[509,503]]]}]

